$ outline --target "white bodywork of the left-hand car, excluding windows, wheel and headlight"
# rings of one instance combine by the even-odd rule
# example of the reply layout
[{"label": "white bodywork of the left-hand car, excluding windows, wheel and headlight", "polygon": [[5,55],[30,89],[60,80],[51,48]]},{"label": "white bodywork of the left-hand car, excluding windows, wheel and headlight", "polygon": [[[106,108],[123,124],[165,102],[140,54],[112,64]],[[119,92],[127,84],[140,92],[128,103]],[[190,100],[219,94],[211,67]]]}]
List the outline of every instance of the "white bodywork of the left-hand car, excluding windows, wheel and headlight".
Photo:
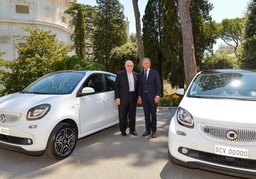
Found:
[{"label": "white bodywork of the left-hand car, excluding windows, wheel and headlight", "polygon": [[[9,128],[10,136],[32,139],[33,144],[18,145],[5,141],[0,141],[0,143],[19,146],[26,151],[42,151],[45,150],[53,128],[62,120],[71,119],[76,122],[78,138],[118,124],[114,91],[76,97],[81,85],[90,75],[95,73],[116,76],[108,72],[88,71],[71,94],[23,94],[18,92],[0,97],[0,112],[23,114],[23,119],[18,124],[8,126],[0,121],[0,127]],[[28,110],[40,104],[51,105],[47,115],[39,120],[26,120]],[[29,125],[37,125],[38,127],[29,129]]]}]

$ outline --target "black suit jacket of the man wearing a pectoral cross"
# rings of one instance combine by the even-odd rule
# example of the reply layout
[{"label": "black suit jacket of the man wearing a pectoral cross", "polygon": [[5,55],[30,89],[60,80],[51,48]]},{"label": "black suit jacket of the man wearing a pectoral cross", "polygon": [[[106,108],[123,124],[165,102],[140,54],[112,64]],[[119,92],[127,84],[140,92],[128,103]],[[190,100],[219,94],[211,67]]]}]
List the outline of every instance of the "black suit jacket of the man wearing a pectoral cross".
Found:
[{"label": "black suit jacket of the man wearing a pectoral cross", "polygon": [[[137,93],[138,93],[138,73],[132,72],[133,73],[133,79],[134,79],[134,98],[135,101],[137,102]],[[126,70],[119,71],[116,74],[116,81],[115,81],[115,99],[120,98],[121,100],[121,105],[126,104],[126,101],[129,96],[129,81],[128,81],[128,76]]]}]

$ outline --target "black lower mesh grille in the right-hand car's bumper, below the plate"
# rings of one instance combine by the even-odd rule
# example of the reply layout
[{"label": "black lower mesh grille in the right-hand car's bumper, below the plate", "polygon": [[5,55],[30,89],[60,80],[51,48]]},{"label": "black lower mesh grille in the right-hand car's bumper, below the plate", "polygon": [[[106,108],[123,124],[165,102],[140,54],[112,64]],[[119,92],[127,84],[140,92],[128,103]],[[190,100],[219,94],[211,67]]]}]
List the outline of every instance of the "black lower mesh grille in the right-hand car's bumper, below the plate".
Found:
[{"label": "black lower mesh grille in the right-hand car's bumper, below the plate", "polygon": [[[180,153],[181,149],[183,147],[180,147],[178,149],[178,151]],[[217,155],[214,153],[207,153],[207,152],[202,152],[202,151],[196,151],[196,150],[192,150],[192,149],[188,149],[188,153],[187,154],[183,154],[183,155],[187,155],[191,158],[195,158],[198,160],[204,160],[206,162],[211,162],[211,163],[217,163],[220,165],[228,165],[228,166],[232,166],[232,167],[239,167],[239,168],[246,168],[246,169],[253,169],[256,170],[256,160],[251,160],[251,159],[245,159],[245,158],[232,158],[234,159],[233,162],[228,162],[225,158],[230,158],[230,157],[225,157],[223,155]]]}]

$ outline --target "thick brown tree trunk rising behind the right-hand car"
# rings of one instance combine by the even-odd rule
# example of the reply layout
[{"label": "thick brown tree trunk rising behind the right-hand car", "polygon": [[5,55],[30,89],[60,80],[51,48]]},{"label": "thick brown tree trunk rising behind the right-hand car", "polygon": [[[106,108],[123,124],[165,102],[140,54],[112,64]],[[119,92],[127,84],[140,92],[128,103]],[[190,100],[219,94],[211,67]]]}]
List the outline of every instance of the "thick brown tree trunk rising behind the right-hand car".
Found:
[{"label": "thick brown tree trunk rising behind the right-hand car", "polygon": [[183,41],[185,79],[187,87],[190,85],[190,82],[197,74],[197,65],[194,56],[192,23],[190,18],[190,2],[191,0],[178,0]]}]

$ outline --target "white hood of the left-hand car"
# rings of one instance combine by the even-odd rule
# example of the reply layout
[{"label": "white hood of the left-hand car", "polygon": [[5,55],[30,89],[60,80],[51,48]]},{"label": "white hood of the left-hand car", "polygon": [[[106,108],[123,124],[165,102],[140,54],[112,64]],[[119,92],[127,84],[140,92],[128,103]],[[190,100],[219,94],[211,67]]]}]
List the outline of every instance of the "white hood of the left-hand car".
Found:
[{"label": "white hood of the left-hand car", "polygon": [[40,105],[51,104],[62,95],[48,95],[48,94],[23,94],[13,93],[0,97],[0,111],[8,113],[26,113],[28,109]]}]

